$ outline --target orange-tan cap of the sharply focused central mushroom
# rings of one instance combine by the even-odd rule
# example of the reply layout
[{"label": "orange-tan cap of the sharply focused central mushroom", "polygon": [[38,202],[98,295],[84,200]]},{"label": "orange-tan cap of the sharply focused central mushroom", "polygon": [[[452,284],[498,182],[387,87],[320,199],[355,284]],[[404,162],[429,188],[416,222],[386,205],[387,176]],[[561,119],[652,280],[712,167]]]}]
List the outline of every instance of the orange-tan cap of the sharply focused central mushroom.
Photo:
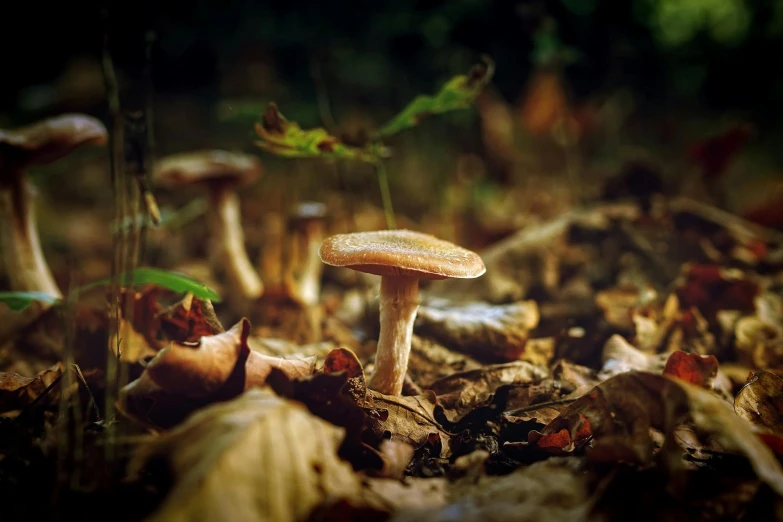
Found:
[{"label": "orange-tan cap of the sharply focused central mushroom", "polygon": [[318,255],[327,265],[379,276],[471,279],[487,270],[477,253],[412,230],[337,234],[324,240]]}]

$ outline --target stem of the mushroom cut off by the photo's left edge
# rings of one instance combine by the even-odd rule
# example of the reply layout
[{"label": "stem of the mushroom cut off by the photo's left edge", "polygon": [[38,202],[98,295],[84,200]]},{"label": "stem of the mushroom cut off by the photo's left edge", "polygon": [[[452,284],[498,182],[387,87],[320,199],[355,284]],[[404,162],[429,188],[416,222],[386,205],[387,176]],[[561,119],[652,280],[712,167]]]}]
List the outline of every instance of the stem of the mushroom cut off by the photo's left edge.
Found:
[{"label": "stem of the mushroom cut off by the photo's left edge", "polygon": [[12,290],[62,297],[41,250],[34,191],[21,173],[0,186],[0,244]]}]

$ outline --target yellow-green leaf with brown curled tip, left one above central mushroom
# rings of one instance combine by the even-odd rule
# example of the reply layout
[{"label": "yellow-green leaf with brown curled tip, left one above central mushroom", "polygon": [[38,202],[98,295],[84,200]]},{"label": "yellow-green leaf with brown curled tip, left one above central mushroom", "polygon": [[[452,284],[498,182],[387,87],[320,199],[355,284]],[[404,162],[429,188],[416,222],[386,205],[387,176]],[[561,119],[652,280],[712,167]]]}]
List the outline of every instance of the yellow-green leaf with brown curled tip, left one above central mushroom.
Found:
[{"label": "yellow-green leaf with brown curled tip, left one above central mushroom", "polygon": [[288,121],[270,103],[261,123],[256,123],[255,131],[260,141],[256,145],[261,149],[286,158],[335,158],[375,163],[378,151],[351,147],[332,136],[325,129],[302,130],[296,122]]}]

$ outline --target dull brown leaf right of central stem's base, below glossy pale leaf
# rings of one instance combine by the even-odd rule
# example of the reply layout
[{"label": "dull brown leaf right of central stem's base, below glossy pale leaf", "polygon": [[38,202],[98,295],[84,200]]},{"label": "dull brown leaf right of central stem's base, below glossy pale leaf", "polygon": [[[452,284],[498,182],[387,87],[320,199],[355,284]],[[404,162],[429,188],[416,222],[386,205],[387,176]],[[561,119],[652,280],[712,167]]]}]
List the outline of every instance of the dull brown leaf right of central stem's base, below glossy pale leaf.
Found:
[{"label": "dull brown leaf right of central stem's base, below glossy pale leaf", "polygon": [[488,406],[501,386],[531,386],[549,376],[546,368],[525,361],[484,366],[455,373],[432,384],[449,422],[459,422],[477,408]]}]

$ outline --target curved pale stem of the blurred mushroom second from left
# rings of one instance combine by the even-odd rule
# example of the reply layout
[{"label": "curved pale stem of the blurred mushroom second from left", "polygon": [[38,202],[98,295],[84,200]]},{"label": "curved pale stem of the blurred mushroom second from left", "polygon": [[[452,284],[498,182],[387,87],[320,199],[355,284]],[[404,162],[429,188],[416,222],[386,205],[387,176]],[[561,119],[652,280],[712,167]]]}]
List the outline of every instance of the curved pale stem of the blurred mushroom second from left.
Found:
[{"label": "curved pale stem of the blurred mushroom second from left", "polygon": [[212,194],[210,224],[213,242],[212,261],[225,271],[231,287],[246,299],[256,299],[264,291],[261,278],[253,268],[245,250],[245,234],[239,210],[239,197],[229,189]]}]

